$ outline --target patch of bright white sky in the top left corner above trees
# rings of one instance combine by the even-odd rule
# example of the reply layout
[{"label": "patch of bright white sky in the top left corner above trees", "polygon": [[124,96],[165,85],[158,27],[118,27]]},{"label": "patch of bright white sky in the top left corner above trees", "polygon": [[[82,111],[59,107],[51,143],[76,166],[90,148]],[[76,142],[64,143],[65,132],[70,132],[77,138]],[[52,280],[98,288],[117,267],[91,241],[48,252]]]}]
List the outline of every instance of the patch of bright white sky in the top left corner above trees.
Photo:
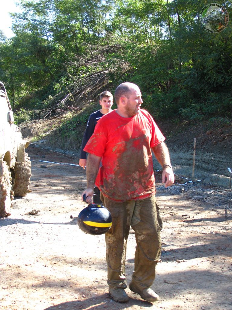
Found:
[{"label": "patch of bright white sky in the top left corner above trees", "polygon": [[9,12],[20,12],[20,8],[15,5],[17,0],[2,0],[1,2],[0,29],[7,38],[11,38],[14,36],[14,33],[11,30],[12,18],[9,16]]}]

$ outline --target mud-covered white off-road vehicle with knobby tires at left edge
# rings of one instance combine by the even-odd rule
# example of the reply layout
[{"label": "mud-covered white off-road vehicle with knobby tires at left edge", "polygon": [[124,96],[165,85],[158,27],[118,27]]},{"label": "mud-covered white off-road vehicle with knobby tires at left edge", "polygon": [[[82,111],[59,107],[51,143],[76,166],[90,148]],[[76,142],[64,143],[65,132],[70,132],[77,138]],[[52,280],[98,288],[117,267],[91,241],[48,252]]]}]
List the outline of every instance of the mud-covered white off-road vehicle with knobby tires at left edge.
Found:
[{"label": "mud-covered white off-road vehicle with knobby tires at left edge", "polygon": [[5,86],[0,82],[0,217],[9,216],[14,196],[30,192],[31,162],[14,116]]}]

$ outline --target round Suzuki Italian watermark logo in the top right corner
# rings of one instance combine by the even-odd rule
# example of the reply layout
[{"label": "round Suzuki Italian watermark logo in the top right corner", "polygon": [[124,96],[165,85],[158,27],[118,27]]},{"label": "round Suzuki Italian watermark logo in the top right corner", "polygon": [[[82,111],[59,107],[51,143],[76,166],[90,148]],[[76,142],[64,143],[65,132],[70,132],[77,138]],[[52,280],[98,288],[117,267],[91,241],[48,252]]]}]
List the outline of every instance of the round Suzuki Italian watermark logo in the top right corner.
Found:
[{"label": "round Suzuki Italian watermark logo in the top right corner", "polygon": [[225,7],[218,3],[210,3],[200,11],[200,25],[210,33],[223,31],[229,22],[229,14]]}]

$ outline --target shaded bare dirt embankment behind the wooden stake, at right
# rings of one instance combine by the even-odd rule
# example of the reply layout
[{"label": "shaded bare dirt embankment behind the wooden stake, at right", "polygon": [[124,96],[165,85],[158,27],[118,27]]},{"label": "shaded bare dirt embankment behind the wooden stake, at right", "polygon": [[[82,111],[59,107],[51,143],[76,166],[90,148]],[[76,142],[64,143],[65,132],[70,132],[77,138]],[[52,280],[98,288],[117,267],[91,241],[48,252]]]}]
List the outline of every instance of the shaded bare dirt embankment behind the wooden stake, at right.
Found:
[{"label": "shaded bare dirt embankment behind the wooden stake, at right", "polygon": [[231,188],[232,120],[158,123],[166,136],[174,171],[192,178],[195,143],[194,178],[212,185]]}]

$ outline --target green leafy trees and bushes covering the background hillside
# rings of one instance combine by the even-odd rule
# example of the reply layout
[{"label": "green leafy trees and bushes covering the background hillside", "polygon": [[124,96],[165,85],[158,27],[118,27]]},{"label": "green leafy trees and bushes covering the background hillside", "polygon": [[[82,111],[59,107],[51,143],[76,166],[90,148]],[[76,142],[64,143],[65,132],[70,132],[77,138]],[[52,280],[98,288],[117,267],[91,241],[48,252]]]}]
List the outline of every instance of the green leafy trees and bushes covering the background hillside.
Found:
[{"label": "green leafy trees and bushes covering the background hillside", "polygon": [[[15,37],[7,40],[0,32],[0,80],[17,108],[16,122],[53,106],[64,108],[64,94],[97,73],[107,75],[108,82],[96,83],[91,100],[100,89],[114,92],[130,81],[140,86],[143,107],[155,118],[232,116],[232,26],[229,22],[217,34],[201,29],[198,15],[207,3],[21,1],[22,13],[12,14]],[[223,5],[231,18],[231,3]],[[74,105],[87,97],[89,102],[91,94],[83,94]],[[88,105],[65,118],[60,137],[74,143],[94,108]]]}]

